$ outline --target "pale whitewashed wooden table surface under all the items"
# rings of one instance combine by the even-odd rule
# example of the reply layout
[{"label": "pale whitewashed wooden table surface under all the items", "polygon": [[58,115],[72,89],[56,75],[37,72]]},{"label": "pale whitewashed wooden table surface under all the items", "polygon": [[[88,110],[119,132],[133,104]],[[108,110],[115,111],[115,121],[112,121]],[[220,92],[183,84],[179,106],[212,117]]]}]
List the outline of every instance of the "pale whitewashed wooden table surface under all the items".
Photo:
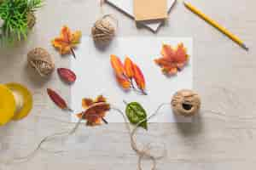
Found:
[{"label": "pale whitewashed wooden table surface under all the items", "polygon": [[[104,6],[106,14],[114,14],[119,20],[118,37],[194,38],[193,85],[201,94],[202,111],[192,123],[150,124],[148,139],[165,143],[168,152],[158,162],[158,168],[253,169],[256,167],[256,2],[191,0],[191,3],[239,35],[250,51],[241,49],[191,14],[181,2],[175,5],[166,26],[157,34],[137,29],[131,19]],[[70,57],[61,57],[51,47],[50,39],[58,35],[63,25],[90,36],[90,28],[100,16],[96,0],[46,0],[28,40],[15,48],[1,48],[0,82],[25,84],[32,90],[34,108],[26,119],[0,127],[0,170],[137,169],[137,156],[121,123],[95,128],[81,126],[68,139],[44,144],[47,150],[38,151],[32,159],[14,161],[15,157],[32,152],[45,136],[73,127],[66,123],[69,117],[46,94],[46,88],[54,87],[68,99],[69,87],[59,80],[56,72],[49,79],[40,79],[27,68],[27,52],[36,47],[46,48],[54,56],[57,67],[67,67]],[[149,169],[148,161],[143,165]]]}]

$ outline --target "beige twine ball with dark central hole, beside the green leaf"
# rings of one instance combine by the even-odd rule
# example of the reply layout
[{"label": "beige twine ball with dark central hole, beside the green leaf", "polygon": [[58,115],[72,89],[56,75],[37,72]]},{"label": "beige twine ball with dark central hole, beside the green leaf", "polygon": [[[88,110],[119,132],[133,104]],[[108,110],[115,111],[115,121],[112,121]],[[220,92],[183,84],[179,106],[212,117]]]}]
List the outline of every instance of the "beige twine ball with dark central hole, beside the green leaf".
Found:
[{"label": "beige twine ball with dark central hole, beside the green leaf", "polygon": [[172,110],[177,115],[195,116],[200,110],[201,99],[199,94],[189,89],[178,91],[172,97]]}]

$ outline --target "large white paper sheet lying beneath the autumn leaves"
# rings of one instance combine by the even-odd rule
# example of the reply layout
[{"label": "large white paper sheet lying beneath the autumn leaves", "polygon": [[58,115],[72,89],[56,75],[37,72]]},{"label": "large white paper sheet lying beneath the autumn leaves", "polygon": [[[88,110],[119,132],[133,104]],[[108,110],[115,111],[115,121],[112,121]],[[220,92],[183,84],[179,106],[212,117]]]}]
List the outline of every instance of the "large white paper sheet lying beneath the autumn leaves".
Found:
[{"label": "large white paper sheet lying beneath the autumn leaves", "polygon": [[[154,59],[159,58],[162,43],[177,45],[183,42],[188,48],[189,65],[177,76],[166,77],[160,67],[154,64]],[[143,105],[151,115],[161,103],[170,103],[172,95],[182,88],[192,88],[192,39],[172,37],[117,37],[105,49],[96,48],[90,37],[83,37],[79,49],[76,50],[77,59],[72,59],[71,69],[77,74],[77,82],[71,89],[71,106],[74,113],[83,111],[81,101],[84,97],[96,98],[102,94],[108,102],[125,111],[126,102],[137,101]],[[139,65],[146,80],[147,96],[139,95],[133,91],[125,93],[119,88],[110,65],[110,54],[116,54],[124,60],[125,55]],[[122,116],[115,111],[110,111],[106,117],[108,122],[124,122]],[[77,122],[76,116],[72,121]],[[149,122],[190,122],[190,118],[176,117],[172,114],[171,105],[166,105],[160,114]]]}]

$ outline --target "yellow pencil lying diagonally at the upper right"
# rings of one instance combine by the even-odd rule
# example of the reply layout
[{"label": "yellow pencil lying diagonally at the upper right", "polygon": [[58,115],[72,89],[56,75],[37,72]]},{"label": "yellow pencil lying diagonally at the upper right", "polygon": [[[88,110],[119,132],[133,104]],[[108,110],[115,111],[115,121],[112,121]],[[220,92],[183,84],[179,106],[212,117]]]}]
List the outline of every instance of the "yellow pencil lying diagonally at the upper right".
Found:
[{"label": "yellow pencil lying diagonally at the upper right", "polygon": [[185,5],[185,7],[189,8],[189,10],[191,10],[193,13],[197,14],[198,16],[200,16],[203,20],[207,21],[207,23],[209,23],[210,25],[214,26],[219,31],[223,32],[227,37],[230,37],[231,40],[233,40],[234,42],[238,43],[241,46],[241,48],[244,48],[246,50],[249,49],[244,44],[244,42],[241,41],[241,39],[239,37],[236,37],[234,34],[232,34],[230,31],[228,31],[226,28],[224,28],[224,26],[220,26],[218,24],[218,22],[216,22],[216,21],[212,20],[211,18],[209,18],[206,14],[203,14],[200,10],[195,8],[193,5],[191,5],[190,3],[185,3],[185,2],[184,2],[184,5]]}]

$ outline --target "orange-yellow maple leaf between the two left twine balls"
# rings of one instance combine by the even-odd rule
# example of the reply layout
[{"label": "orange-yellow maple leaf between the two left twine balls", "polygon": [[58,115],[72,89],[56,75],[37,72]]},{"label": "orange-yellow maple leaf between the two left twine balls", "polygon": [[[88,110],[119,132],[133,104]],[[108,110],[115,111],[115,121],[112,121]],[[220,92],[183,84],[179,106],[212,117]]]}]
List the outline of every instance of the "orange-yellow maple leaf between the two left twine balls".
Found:
[{"label": "orange-yellow maple leaf between the two left twine balls", "polygon": [[73,57],[76,58],[74,48],[76,48],[77,44],[80,42],[81,36],[81,31],[75,31],[72,33],[67,26],[63,26],[60,37],[55,37],[51,43],[61,54],[71,53],[73,54]]}]

